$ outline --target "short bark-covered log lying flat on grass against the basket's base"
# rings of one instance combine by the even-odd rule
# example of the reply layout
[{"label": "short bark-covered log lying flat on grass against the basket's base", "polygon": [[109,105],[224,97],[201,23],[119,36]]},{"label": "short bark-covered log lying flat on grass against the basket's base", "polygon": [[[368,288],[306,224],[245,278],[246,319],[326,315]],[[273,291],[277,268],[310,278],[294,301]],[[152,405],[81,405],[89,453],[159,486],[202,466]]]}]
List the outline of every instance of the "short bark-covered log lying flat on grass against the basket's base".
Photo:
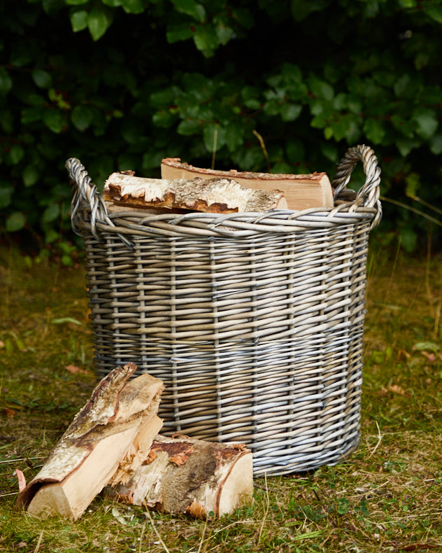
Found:
[{"label": "short bark-covered log lying flat on grass against the basket's base", "polygon": [[252,452],[243,444],[157,436],[131,479],[108,492],[169,514],[220,517],[252,503]]}]

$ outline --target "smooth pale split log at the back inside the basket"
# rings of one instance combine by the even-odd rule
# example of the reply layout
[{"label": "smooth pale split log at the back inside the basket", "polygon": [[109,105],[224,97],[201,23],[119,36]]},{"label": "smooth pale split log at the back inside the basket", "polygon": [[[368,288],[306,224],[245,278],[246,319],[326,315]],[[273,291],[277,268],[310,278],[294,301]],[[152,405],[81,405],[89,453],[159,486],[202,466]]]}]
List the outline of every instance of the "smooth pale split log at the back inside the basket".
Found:
[{"label": "smooth pale split log at the back inside the basket", "polygon": [[283,190],[287,209],[333,207],[332,185],[325,173],[307,175],[271,174],[201,169],[181,162],[180,158],[166,158],[161,163],[162,179],[234,179],[247,188]]}]

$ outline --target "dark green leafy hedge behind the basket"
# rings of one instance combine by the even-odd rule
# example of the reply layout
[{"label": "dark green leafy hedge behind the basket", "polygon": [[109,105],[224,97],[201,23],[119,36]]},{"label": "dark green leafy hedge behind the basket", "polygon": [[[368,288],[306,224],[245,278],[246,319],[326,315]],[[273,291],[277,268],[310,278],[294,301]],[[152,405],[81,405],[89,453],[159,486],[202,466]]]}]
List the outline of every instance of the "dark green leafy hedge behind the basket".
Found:
[{"label": "dark green leafy hedge behind the basket", "polygon": [[[69,253],[72,156],[97,182],[159,176],[167,156],[333,176],[359,143],[381,193],[438,230],[441,26],[438,0],[3,2],[1,231]],[[379,239],[428,236],[424,216],[384,211]]]}]

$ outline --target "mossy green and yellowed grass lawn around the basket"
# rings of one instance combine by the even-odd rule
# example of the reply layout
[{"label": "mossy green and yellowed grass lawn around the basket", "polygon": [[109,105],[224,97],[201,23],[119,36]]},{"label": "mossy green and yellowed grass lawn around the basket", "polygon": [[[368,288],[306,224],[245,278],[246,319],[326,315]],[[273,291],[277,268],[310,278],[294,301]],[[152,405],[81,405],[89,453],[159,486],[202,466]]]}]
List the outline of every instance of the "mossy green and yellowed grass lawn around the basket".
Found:
[{"label": "mossy green and yellowed grass lawn around the basket", "polygon": [[[362,430],[347,461],[255,480],[255,503],[218,521],[99,496],[76,523],[15,510],[89,397],[82,267],[0,250],[0,552],[442,551],[442,263],[371,253]],[[67,367],[67,368],[66,368]]]}]

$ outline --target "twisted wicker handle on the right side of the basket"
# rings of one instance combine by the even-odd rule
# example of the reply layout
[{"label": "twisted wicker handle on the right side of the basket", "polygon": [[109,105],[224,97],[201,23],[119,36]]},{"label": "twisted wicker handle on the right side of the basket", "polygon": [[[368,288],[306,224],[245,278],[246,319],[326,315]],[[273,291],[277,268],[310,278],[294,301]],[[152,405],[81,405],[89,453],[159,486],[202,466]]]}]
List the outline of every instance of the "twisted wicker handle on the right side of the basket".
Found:
[{"label": "twisted wicker handle on the right side of the basket", "polygon": [[[353,190],[345,187],[350,181],[352,170],[358,161],[362,161],[366,179],[362,188],[357,193],[354,193]],[[374,228],[378,225],[382,216],[382,206],[379,201],[379,183],[380,167],[378,167],[378,159],[373,150],[364,144],[353,146],[352,148],[348,148],[347,153],[345,153],[345,156],[338,163],[336,175],[332,182],[334,200],[348,201],[351,199],[355,208],[360,205],[363,207],[375,207],[378,213],[371,225],[371,228]]]}]

